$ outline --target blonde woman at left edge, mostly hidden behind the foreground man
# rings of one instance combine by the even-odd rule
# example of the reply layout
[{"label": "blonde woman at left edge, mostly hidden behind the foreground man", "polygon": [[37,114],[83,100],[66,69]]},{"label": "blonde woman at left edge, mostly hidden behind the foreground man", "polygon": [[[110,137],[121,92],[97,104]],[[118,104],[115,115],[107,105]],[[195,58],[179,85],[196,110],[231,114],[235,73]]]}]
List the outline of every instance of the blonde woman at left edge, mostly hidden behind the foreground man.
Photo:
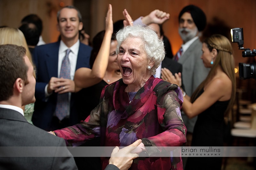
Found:
[{"label": "blonde woman at left edge, mostly hidden behind the foreground man", "polygon": [[[26,55],[28,56],[30,62],[33,64],[32,56],[28,49],[25,36],[18,28],[12,28],[8,26],[0,28],[0,45],[4,44],[14,44],[26,48]],[[35,72],[34,76],[36,76]],[[24,115],[26,119],[28,120],[28,122],[32,123],[31,117],[34,112],[34,103],[23,106],[22,108],[24,110]]]}]

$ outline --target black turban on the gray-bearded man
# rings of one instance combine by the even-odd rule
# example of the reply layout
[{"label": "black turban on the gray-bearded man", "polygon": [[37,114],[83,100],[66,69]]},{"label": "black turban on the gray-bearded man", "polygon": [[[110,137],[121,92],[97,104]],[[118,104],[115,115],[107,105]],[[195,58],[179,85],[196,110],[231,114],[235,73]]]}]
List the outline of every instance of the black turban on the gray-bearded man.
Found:
[{"label": "black turban on the gray-bearded man", "polygon": [[179,20],[180,17],[185,13],[185,12],[189,12],[191,14],[191,17],[193,18],[196,27],[198,29],[198,31],[203,31],[205,26],[206,26],[206,16],[204,14],[204,11],[202,11],[200,8],[198,8],[195,5],[188,5],[185,6],[179,14]]}]

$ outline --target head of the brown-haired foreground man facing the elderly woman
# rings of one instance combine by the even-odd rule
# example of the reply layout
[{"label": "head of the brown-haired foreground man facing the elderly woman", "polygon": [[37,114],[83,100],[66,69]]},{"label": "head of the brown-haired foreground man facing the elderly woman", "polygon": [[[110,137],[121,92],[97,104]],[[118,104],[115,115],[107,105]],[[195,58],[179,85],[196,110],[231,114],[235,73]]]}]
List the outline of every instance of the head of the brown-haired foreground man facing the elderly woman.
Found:
[{"label": "head of the brown-haired foreground man facing the elderly woman", "polygon": [[20,95],[22,105],[35,102],[36,80],[33,70],[24,47],[0,45],[0,101]]}]

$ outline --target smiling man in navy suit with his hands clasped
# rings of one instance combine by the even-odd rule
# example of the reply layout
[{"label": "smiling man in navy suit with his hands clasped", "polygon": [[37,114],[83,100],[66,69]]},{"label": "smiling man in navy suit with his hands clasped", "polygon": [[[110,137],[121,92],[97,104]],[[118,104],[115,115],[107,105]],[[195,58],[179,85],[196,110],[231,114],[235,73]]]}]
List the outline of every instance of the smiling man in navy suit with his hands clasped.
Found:
[{"label": "smiling man in navy suit with his hands clasped", "polygon": [[[66,6],[57,13],[60,41],[35,48],[33,59],[36,66],[36,102],[32,122],[37,127],[51,131],[79,123],[76,111],[76,93],[73,81],[75,71],[90,68],[92,48],[79,41],[79,30],[83,28],[81,13],[74,6]],[[67,49],[70,63],[70,79],[60,77],[62,60]],[[69,94],[67,115],[60,119],[56,115],[57,96]]]}]

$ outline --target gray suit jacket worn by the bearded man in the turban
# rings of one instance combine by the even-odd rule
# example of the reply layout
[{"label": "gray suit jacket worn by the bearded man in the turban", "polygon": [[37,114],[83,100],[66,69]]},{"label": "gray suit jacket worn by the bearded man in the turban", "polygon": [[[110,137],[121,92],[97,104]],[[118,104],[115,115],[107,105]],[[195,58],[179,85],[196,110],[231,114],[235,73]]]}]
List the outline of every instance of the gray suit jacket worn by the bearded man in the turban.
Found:
[{"label": "gray suit jacket worn by the bearded man in the turban", "polygon": [[[209,68],[204,67],[201,55],[202,42],[197,39],[178,60],[178,63],[182,64],[182,80],[186,88],[185,92],[188,96],[191,96],[196,88],[204,81],[210,70]],[[183,112],[181,112],[181,114],[188,132],[193,133],[197,116],[188,119]]]}]

